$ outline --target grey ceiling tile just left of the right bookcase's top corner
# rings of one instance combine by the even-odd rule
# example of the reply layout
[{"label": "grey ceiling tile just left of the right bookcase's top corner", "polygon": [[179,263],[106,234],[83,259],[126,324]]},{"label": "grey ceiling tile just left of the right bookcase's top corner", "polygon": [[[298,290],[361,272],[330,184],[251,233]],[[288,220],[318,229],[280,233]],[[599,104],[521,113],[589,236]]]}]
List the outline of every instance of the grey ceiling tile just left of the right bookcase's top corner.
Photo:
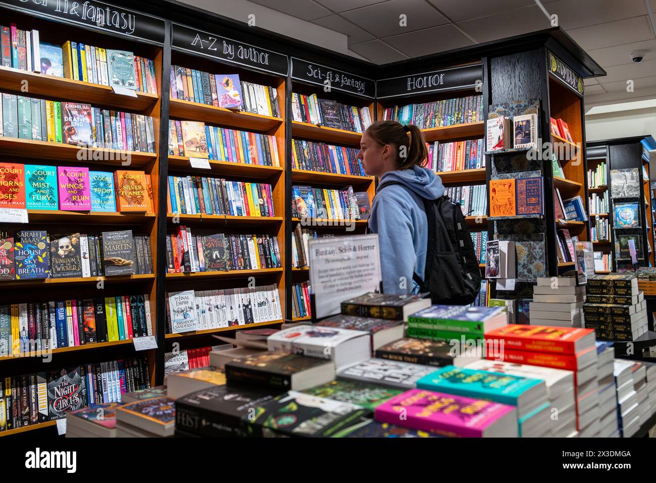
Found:
[{"label": "grey ceiling tile just left of the right bookcase's top corner", "polygon": [[550,26],[537,5],[502,14],[458,22],[478,42],[504,39],[520,33],[542,30]]}]

